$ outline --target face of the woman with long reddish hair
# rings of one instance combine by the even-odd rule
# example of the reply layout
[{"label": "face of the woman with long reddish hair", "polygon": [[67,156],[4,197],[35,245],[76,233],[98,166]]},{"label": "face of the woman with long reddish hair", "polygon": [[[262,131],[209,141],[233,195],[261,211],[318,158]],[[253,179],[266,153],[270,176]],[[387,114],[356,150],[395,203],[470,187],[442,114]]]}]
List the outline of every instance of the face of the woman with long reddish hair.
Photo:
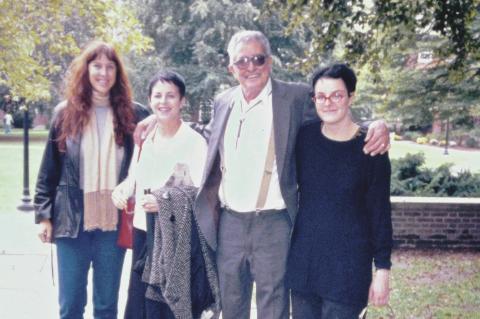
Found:
[{"label": "face of the woman with long reddish hair", "polygon": [[88,79],[95,92],[101,95],[110,93],[117,77],[117,66],[104,54],[88,64]]}]

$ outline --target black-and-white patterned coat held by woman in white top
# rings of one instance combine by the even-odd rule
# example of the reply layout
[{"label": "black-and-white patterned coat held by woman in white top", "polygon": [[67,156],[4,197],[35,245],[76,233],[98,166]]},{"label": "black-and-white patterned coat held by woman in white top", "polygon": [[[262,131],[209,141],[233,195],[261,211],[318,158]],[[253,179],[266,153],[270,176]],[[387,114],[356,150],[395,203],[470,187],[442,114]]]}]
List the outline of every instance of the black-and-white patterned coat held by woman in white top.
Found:
[{"label": "black-and-white patterned coat held by woman in white top", "polygon": [[213,252],[193,214],[197,188],[172,183],[152,194],[158,214],[147,215],[148,255],[142,279],[146,297],[168,304],[175,318],[220,313],[220,294]]}]

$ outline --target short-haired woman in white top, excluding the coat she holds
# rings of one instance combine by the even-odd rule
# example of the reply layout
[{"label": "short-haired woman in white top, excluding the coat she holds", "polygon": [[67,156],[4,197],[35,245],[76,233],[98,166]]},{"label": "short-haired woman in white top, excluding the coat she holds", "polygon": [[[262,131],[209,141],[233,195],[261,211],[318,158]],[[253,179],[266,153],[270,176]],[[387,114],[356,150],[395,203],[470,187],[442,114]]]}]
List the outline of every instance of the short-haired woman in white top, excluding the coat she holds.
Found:
[{"label": "short-haired woman in white top, excluding the coat she holds", "polygon": [[[187,184],[198,188],[205,165],[207,143],[181,119],[181,109],[185,104],[185,82],[178,73],[173,71],[157,73],[150,80],[148,98],[155,116],[153,129],[141,147],[135,148],[135,160],[130,165],[128,178],[118,185],[112,194],[112,200],[119,209],[127,206],[130,196],[135,195],[136,200],[132,270],[125,319],[174,319],[173,309],[169,307],[166,299],[161,298],[161,301],[157,301],[146,298],[147,283],[142,281],[143,269],[139,269],[139,262],[141,265],[145,254],[156,249],[156,247],[147,249],[147,246],[152,247],[147,238],[154,236],[154,230],[147,227],[145,213],[164,213],[159,211],[155,197],[144,192],[162,188],[175,174],[178,165],[181,165],[183,170],[186,170],[186,175],[189,175]],[[181,205],[177,208],[180,207]]]}]

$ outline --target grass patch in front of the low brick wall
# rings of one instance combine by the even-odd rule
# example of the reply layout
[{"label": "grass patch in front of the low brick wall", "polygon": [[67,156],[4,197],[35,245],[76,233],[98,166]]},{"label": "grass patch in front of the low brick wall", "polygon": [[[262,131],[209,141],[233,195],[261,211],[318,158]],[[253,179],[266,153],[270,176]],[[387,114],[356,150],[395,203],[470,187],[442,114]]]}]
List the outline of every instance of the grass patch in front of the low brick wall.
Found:
[{"label": "grass patch in front of the low brick wall", "polygon": [[[480,318],[480,253],[396,250],[390,305],[394,318]],[[391,318],[372,308],[368,318]]]}]

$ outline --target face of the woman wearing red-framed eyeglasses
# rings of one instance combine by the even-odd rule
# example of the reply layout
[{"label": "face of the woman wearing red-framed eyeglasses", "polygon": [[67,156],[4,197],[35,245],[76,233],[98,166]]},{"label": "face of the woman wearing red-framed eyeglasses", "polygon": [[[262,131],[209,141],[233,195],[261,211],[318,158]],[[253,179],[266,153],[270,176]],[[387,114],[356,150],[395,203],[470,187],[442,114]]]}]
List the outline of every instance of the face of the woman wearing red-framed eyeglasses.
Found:
[{"label": "face of the woman wearing red-framed eyeglasses", "polygon": [[354,94],[348,95],[342,79],[320,78],[314,89],[315,108],[325,124],[338,124],[350,120],[350,105]]}]

